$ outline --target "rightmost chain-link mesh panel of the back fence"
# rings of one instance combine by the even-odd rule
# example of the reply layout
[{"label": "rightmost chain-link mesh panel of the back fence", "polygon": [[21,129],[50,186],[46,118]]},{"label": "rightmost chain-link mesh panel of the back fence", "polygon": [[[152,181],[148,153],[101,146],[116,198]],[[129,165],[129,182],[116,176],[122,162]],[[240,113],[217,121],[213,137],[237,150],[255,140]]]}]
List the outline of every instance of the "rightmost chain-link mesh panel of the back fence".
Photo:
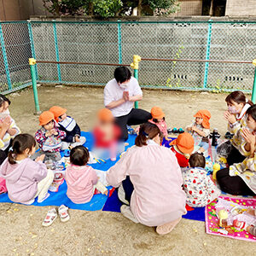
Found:
[{"label": "rightmost chain-link mesh panel of the back fence", "polygon": [[[212,24],[210,59],[252,61],[256,54],[256,24]],[[252,90],[254,68],[248,64],[210,63],[207,88]]]}]

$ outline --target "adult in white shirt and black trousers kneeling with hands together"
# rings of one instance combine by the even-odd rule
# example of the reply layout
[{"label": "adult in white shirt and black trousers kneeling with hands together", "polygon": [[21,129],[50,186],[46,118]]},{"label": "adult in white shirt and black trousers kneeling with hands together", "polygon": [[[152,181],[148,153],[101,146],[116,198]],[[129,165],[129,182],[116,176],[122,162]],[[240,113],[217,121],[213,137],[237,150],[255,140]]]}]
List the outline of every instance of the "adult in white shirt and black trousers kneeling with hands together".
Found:
[{"label": "adult in white shirt and black trousers kneeling with hands together", "polygon": [[104,89],[104,104],[109,108],[121,128],[122,139],[127,140],[126,125],[140,125],[152,119],[151,113],[138,108],[133,108],[134,102],[143,99],[137,79],[131,77],[127,67],[117,67],[114,70],[114,79],[106,84]]}]

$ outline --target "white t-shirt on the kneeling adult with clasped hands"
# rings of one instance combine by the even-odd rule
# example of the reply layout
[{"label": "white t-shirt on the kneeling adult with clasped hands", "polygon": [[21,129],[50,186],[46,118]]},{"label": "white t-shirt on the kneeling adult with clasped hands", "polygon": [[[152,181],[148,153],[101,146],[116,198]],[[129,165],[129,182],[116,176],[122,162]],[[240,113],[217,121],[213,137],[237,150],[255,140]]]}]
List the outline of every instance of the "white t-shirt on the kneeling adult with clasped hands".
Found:
[{"label": "white t-shirt on the kneeling adult with clasped hands", "polygon": [[[137,82],[137,79],[131,77],[130,82],[127,84],[125,90],[129,91],[129,96],[143,95],[140,85]],[[112,79],[106,84],[104,89],[104,104],[107,106],[110,102],[119,101],[123,97],[122,89],[117,83],[116,79]],[[133,102],[125,102],[118,107],[111,108],[110,110],[113,113],[114,117],[123,116],[131,112],[133,107]]]}]

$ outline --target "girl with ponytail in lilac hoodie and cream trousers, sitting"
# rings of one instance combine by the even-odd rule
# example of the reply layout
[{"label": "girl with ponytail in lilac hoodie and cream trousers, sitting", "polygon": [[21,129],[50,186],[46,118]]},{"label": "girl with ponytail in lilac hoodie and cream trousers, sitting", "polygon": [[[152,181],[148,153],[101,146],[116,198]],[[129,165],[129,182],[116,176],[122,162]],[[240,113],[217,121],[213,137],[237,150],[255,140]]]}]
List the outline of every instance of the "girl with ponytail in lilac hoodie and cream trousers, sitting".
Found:
[{"label": "girl with ponytail in lilac hoodie and cream trousers, sitting", "polygon": [[0,175],[6,180],[9,199],[23,204],[32,204],[48,196],[48,189],[54,173],[43,164],[44,154],[35,161],[30,156],[35,153],[36,142],[30,134],[17,135],[9,149],[8,158],[0,166]]}]

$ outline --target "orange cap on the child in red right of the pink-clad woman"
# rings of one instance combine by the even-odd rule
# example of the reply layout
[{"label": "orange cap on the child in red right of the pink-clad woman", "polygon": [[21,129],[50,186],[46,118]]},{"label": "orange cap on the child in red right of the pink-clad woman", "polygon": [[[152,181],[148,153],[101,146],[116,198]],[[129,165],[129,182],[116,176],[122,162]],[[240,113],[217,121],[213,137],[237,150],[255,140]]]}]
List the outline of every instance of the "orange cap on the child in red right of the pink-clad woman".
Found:
[{"label": "orange cap on the child in red right of the pink-clad woman", "polygon": [[170,145],[176,145],[183,154],[191,154],[194,150],[194,138],[188,132],[183,132]]}]

